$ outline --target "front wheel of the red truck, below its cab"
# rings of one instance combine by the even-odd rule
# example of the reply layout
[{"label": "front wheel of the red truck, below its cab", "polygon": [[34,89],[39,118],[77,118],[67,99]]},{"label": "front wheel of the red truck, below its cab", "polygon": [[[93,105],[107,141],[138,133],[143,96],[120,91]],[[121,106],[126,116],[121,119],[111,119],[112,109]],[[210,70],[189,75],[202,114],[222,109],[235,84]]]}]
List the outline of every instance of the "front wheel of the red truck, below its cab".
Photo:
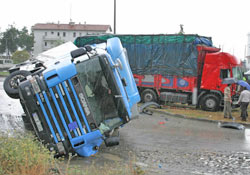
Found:
[{"label": "front wheel of the red truck, below its cab", "polygon": [[201,109],[205,111],[218,111],[219,98],[213,94],[207,94],[201,99]]}]

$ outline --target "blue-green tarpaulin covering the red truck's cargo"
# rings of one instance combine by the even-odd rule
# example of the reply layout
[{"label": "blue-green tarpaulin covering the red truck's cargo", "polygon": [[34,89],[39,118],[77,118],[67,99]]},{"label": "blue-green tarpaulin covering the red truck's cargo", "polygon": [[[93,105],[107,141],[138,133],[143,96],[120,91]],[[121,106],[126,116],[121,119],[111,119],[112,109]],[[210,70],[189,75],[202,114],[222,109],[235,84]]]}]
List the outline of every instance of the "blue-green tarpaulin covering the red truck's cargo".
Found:
[{"label": "blue-green tarpaulin covering the red truck's cargo", "polygon": [[197,44],[212,46],[209,37],[199,35],[96,35],[82,36],[75,45],[99,44],[108,38],[120,38],[126,48],[134,74],[197,75]]}]

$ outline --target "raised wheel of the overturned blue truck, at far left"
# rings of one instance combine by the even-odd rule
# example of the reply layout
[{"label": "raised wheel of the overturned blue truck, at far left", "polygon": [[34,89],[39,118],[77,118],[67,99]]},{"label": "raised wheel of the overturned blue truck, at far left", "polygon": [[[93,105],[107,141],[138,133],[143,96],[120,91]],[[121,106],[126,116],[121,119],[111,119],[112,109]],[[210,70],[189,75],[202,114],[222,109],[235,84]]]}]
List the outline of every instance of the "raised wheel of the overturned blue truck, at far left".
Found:
[{"label": "raised wheel of the overturned blue truck, at far left", "polygon": [[18,83],[24,81],[27,76],[31,75],[29,71],[18,70],[12,72],[5,80],[4,80],[4,90],[6,94],[11,98],[19,98],[18,94]]}]

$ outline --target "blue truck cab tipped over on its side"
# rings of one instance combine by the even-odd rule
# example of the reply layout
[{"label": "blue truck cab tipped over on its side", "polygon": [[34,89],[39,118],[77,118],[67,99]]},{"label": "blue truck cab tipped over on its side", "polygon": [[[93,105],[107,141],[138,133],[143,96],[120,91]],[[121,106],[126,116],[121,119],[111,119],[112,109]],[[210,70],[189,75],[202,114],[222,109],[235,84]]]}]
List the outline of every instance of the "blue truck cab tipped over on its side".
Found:
[{"label": "blue truck cab tipped over on its side", "polygon": [[69,55],[22,81],[20,102],[49,150],[90,156],[103,142],[112,145],[112,133],[133,118],[140,96],[118,38]]}]

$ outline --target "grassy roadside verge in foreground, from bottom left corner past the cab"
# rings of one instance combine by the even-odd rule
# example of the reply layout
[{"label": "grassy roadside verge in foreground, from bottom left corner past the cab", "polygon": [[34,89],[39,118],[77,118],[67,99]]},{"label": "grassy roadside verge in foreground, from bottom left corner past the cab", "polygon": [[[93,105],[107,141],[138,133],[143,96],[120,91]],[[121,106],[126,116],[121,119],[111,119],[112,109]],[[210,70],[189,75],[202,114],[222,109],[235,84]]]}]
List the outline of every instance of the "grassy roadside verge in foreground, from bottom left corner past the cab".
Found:
[{"label": "grassy roadside verge in foreground, from bottom left corner past the cab", "polygon": [[[33,135],[10,137],[0,136],[0,175],[144,175],[134,160],[121,164],[114,162],[100,166],[71,164],[72,156],[66,161],[55,159]],[[74,162],[75,163],[75,162]]]}]

